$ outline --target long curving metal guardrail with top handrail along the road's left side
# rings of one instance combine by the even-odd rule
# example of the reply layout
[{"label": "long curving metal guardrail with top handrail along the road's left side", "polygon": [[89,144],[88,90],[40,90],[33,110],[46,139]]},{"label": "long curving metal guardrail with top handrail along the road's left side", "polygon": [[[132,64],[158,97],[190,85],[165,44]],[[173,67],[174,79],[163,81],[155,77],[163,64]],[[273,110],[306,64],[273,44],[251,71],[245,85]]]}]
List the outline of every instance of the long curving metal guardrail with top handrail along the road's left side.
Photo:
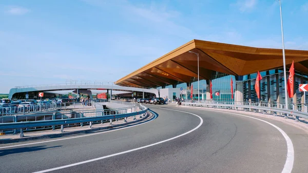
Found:
[{"label": "long curving metal guardrail with top handrail along the road's left side", "polygon": [[[108,120],[112,125],[112,120],[123,119],[126,122],[127,117],[141,116],[146,113],[147,107],[143,105],[131,106],[121,109],[95,110],[83,112],[53,112],[48,114],[32,114],[27,116],[2,116],[0,117],[0,130],[13,129],[13,133],[17,133],[20,129],[21,137],[23,137],[24,130],[40,130],[40,129],[55,129],[61,128],[63,132],[64,127],[69,126],[83,126],[89,124],[92,128],[93,123],[104,123]],[[91,114],[91,116],[89,116]],[[11,122],[7,122],[11,121]],[[2,123],[1,123],[2,122]],[[10,132],[10,131],[5,131]]]}]

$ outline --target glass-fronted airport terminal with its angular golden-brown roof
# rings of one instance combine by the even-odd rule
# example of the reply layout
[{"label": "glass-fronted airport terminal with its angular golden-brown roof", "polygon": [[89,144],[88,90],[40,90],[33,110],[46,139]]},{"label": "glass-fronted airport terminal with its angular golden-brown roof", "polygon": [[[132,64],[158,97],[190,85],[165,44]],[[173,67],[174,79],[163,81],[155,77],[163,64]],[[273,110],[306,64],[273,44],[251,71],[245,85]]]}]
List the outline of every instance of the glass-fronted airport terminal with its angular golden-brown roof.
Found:
[{"label": "glass-fronted airport terminal with its angular golden-brown roof", "polygon": [[[199,59],[199,62],[198,62]],[[307,99],[299,84],[308,84],[308,51],[285,50],[286,68],[294,61],[294,97],[288,103],[300,106]],[[198,95],[199,63],[199,95]],[[117,85],[158,88],[160,97],[214,101],[259,102],[255,90],[260,71],[260,102],[284,104],[281,49],[255,48],[192,40],[115,82]],[[287,73],[288,74],[288,73]],[[232,99],[231,79],[234,99]],[[212,84],[210,99],[209,84]],[[181,91],[181,89],[183,90]],[[219,94],[216,94],[219,92]]]}]

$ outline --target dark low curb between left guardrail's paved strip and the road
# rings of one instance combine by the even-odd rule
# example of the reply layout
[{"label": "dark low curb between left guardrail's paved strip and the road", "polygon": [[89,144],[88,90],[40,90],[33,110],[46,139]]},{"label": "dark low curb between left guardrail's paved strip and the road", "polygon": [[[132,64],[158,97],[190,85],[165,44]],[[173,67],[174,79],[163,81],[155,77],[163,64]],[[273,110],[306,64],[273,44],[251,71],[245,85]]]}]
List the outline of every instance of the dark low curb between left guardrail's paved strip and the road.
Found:
[{"label": "dark low curb between left guardrail's paved strip and the road", "polygon": [[36,140],[36,139],[45,139],[45,138],[58,138],[58,137],[64,137],[64,136],[70,136],[72,134],[79,134],[79,133],[90,133],[94,131],[100,131],[104,129],[109,129],[109,128],[114,128],[114,127],[120,127],[120,126],[125,126],[133,123],[137,123],[140,121],[143,121],[149,117],[149,113],[147,115],[140,119],[140,120],[135,120],[123,124],[116,124],[116,125],[111,125],[107,127],[99,127],[99,128],[91,128],[91,129],[86,129],[86,130],[76,130],[76,131],[70,131],[70,132],[63,132],[59,134],[44,134],[42,136],[35,136],[35,137],[23,137],[23,138],[18,138],[18,139],[3,139],[0,140],[0,144],[8,144],[8,143],[15,143],[15,142],[22,142],[22,141],[30,141],[30,140]]}]

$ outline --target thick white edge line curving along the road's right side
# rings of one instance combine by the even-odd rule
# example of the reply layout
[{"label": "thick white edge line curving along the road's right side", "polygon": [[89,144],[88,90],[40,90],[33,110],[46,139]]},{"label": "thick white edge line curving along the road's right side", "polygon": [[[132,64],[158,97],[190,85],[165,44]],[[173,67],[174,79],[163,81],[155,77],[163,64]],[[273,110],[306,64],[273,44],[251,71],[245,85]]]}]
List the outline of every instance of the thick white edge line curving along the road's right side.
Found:
[{"label": "thick white edge line curving along the road's right side", "polygon": [[[197,109],[201,109],[201,108],[197,108]],[[203,110],[208,110],[208,111],[217,111],[217,112],[223,112],[223,113],[230,113],[230,114],[235,114],[237,116],[242,116],[242,117],[248,117],[248,118],[252,118],[255,120],[259,120],[262,121],[264,123],[267,123],[273,127],[275,127],[284,137],[285,141],[286,141],[286,146],[287,146],[287,154],[286,154],[286,160],[282,169],[281,173],[291,173],[292,169],[293,169],[293,164],[294,164],[294,147],[293,147],[293,143],[292,140],[290,139],[290,137],[287,136],[287,134],[278,126],[269,123],[267,121],[261,120],[261,119],[257,119],[254,117],[249,117],[249,116],[244,116],[243,114],[239,114],[239,113],[232,113],[232,112],[224,112],[224,111],[219,111],[219,110],[209,110],[209,109],[203,109]]]}]

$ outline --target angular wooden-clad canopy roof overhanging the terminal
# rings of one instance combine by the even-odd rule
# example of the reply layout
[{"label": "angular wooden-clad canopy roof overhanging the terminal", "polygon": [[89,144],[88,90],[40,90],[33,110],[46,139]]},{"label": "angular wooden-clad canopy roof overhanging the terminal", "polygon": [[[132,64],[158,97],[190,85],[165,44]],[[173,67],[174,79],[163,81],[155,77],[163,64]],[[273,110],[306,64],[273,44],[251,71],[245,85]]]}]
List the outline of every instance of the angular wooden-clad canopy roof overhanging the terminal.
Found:
[{"label": "angular wooden-clad canopy roof overhanging the terminal", "polygon": [[[198,78],[197,54],[189,51],[199,54],[200,80],[210,79],[213,71],[246,75],[283,66],[281,49],[192,40],[124,76],[115,84],[156,87],[189,83],[191,77]],[[285,50],[285,59],[287,67],[294,60],[296,70],[308,74],[308,51]]]}]

